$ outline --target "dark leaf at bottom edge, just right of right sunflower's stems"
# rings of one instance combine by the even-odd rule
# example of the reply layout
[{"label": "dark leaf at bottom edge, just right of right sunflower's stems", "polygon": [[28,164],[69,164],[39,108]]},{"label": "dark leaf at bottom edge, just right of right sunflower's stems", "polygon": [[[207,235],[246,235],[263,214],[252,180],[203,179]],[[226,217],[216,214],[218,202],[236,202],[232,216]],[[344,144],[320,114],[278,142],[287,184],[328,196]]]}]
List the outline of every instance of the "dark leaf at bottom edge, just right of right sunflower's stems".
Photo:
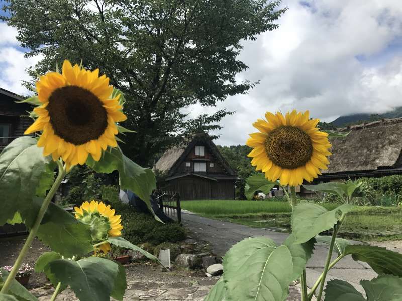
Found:
[{"label": "dark leaf at bottom edge, just right of right sunflower's stems", "polygon": [[366,301],[352,284],[343,280],[328,281],[324,291],[324,301]]}]

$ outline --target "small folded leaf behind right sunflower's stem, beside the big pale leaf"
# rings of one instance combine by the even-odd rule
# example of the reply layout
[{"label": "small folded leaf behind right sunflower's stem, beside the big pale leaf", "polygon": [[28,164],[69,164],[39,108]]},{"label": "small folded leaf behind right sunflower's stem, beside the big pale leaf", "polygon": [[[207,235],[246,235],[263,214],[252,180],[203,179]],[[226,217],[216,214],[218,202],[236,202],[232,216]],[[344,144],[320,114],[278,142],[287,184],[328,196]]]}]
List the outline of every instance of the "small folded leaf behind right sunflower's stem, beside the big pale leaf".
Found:
[{"label": "small folded leaf behind right sunflower's stem, beside the big pale leaf", "polygon": [[312,238],[308,242],[302,244],[294,244],[296,236],[290,234],[283,242],[290,251],[293,261],[292,281],[302,276],[303,270],[306,268],[307,261],[311,258],[314,250],[315,239]]}]

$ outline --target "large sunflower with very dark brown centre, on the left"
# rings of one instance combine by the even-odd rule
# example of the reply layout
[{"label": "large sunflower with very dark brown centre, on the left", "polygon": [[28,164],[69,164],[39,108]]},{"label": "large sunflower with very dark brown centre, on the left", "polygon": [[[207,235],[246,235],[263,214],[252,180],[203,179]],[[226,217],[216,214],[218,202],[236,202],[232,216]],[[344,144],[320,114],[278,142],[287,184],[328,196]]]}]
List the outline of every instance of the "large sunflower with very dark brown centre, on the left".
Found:
[{"label": "large sunflower with very dark brown centre, on the left", "polygon": [[49,72],[36,82],[38,99],[34,108],[38,116],[25,131],[42,131],[38,147],[53,160],[62,157],[67,169],[84,164],[88,154],[99,161],[102,150],[116,147],[118,128],[115,122],[127,119],[119,102],[120,94],[111,98],[113,87],[99,69],[85,70],[63,63],[62,74]]}]

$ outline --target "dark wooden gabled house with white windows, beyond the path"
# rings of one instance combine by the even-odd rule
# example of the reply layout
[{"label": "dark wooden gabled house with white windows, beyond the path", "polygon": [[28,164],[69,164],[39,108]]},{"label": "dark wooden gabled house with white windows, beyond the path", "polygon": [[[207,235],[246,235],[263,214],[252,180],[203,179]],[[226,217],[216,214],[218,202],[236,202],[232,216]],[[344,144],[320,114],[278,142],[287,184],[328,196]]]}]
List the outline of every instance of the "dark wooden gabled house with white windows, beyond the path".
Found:
[{"label": "dark wooden gabled house with white windows, beyond the path", "polygon": [[154,170],[163,175],[158,186],[179,192],[182,200],[235,198],[237,173],[206,133],[167,150]]}]

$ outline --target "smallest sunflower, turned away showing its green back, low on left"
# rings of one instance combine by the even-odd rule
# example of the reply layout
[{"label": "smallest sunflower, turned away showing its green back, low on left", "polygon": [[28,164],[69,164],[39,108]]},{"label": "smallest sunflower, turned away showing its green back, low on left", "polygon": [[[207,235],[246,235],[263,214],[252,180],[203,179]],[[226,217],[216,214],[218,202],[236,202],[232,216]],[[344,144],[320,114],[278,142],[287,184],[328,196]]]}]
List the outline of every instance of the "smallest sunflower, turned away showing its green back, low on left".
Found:
[{"label": "smallest sunflower, turned away showing its green back, low on left", "polygon": [[[111,209],[110,205],[106,206],[103,202],[91,201],[82,203],[79,208],[74,207],[74,210],[75,218],[90,226],[93,244],[103,242],[108,237],[121,235],[122,219],[120,215],[115,215],[115,209]],[[104,243],[99,248],[106,254],[110,251],[110,244]]]}]

